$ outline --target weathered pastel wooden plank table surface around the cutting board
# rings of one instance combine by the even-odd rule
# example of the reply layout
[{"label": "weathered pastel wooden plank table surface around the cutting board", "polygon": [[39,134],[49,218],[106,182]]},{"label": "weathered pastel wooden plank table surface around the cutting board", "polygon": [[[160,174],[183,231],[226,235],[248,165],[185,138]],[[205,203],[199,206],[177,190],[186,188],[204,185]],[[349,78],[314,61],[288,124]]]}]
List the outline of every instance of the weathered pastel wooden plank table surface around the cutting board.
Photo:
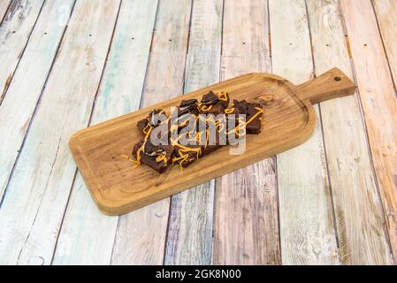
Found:
[{"label": "weathered pastel wooden plank table surface around the cutting board", "polygon": [[[393,0],[0,4],[0,264],[396,264]],[[120,217],[95,207],[76,130],[242,73],[332,67],[302,146]]]}]

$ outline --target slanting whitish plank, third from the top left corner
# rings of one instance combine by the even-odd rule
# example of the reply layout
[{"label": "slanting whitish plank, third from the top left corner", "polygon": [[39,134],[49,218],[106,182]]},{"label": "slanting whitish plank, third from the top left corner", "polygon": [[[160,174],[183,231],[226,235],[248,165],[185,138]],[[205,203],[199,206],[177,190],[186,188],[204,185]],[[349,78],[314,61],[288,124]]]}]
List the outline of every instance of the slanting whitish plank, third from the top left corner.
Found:
[{"label": "slanting whitish plank, third from the top left corner", "polygon": [[44,4],[25,56],[20,59],[6,92],[7,96],[4,96],[0,120],[7,123],[0,124],[0,136],[7,136],[7,139],[4,139],[0,147],[0,200],[65,32],[64,25],[54,24],[59,17],[58,10],[67,7],[70,15],[73,4],[74,0],[57,0]]}]

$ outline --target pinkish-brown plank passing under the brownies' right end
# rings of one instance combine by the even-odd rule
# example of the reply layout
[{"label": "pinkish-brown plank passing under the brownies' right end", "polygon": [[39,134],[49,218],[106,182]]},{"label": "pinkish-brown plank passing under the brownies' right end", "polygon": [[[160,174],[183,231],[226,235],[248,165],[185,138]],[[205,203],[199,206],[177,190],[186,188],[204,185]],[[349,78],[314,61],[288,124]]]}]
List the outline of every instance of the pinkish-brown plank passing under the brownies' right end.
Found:
[{"label": "pinkish-brown plank passing under the brownies' right end", "polygon": [[[270,73],[268,34],[266,1],[225,1],[222,79]],[[213,264],[280,263],[275,165],[271,158],[217,180]]]}]

